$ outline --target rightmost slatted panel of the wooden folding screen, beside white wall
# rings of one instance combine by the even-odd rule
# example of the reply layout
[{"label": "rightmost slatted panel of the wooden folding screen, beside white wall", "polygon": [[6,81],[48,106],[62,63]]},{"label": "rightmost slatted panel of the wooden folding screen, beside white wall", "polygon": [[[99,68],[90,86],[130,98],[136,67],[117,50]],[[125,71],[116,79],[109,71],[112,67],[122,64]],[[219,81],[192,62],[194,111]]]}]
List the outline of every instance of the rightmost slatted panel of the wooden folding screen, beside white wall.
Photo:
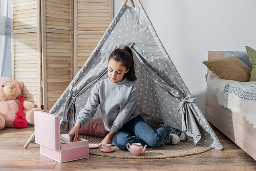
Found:
[{"label": "rightmost slatted panel of the wooden folding screen, beside white wall", "polygon": [[113,19],[113,0],[74,2],[75,73],[89,58]]}]

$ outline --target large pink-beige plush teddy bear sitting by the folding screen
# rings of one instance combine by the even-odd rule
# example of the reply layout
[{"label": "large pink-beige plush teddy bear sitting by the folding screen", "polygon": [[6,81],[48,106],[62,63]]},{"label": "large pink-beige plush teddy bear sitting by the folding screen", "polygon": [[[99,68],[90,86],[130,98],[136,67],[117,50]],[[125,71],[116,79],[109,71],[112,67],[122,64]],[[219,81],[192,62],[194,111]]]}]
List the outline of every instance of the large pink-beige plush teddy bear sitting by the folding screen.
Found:
[{"label": "large pink-beige plush teddy bear sitting by the folding screen", "polygon": [[[15,81],[9,77],[0,77],[0,130],[4,127],[15,127],[13,120],[18,112],[19,101],[18,95],[22,95],[24,83]],[[34,124],[34,112],[42,111],[35,108],[31,101],[23,101],[23,113],[26,114],[28,124]]]}]

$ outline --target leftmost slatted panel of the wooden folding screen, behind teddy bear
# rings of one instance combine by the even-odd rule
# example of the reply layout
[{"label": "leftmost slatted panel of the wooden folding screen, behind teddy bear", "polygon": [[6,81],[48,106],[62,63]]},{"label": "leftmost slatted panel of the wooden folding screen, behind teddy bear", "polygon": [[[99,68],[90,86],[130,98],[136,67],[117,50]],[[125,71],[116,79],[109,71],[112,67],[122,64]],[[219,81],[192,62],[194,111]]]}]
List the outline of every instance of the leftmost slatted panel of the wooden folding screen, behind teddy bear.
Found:
[{"label": "leftmost slatted panel of the wooden folding screen, behind teddy bear", "polygon": [[40,4],[36,0],[13,0],[11,9],[12,78],[24,82],[25,99],[40,108]]}]

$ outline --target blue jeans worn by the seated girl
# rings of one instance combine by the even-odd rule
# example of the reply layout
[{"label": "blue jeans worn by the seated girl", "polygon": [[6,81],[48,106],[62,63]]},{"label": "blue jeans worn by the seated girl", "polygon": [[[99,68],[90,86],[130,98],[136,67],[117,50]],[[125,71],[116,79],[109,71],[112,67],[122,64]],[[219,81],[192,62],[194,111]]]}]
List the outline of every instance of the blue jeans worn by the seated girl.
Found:
[{"label": "blue jeans worn by the seated girl", "polygon": [[122,150],[127,150],[127,143],[141,143],[142,146],[157,147],[163,143],[170,130],[167,127],[160,127],[153,130],[145,120],[138,115],[129,122],[125,123],[123,127],[114,135],[112,141],[114,145]]}]

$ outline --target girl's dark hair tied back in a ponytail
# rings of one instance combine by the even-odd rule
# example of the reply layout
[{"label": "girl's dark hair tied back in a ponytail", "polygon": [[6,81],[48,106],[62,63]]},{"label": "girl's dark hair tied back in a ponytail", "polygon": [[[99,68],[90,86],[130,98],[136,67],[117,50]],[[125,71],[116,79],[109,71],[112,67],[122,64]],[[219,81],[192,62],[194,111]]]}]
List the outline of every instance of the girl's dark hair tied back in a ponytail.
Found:
[{"label": "girl's dark hair tied back in a ponytail", "polygon": [[126,67],[126,71],[129,69],[129,71],[123,75],[123,78],[126,77],[130,81],[137,80],[136,73],[135,73],[136,64],[133,60],[133,52],[131,48],[125,46],[122,49],[115,49],[110,54],[108,63],[112,59],[117,62],[120,62],[123,67]]}]

